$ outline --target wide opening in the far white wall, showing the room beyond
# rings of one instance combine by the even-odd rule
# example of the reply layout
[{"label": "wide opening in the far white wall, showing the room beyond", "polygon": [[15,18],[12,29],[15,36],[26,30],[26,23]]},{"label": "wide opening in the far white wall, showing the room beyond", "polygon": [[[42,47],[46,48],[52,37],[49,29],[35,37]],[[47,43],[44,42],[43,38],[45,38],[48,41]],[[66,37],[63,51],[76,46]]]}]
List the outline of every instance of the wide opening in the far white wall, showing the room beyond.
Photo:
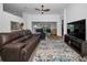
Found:
[{"label": "wide opening in the far white wall, showing the room beyond", "polygon": [[35,33],[37,29],[42,29],[47,37],[57,35],[57,22],[32,22],[32,31]]}]

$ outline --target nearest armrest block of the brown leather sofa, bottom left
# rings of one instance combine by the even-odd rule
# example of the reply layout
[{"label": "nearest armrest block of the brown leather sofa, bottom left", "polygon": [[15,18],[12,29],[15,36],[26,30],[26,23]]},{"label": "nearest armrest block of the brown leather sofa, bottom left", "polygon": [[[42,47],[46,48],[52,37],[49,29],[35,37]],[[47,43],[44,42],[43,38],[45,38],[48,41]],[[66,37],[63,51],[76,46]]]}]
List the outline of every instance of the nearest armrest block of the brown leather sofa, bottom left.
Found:
[{"label": "nearest armrest block of the brown leather sofa, bottom left", "polygon": [[9,62],[20,61],[20,51],[24,45],[24,43],[4,45],[1,52],[2,59]]}]

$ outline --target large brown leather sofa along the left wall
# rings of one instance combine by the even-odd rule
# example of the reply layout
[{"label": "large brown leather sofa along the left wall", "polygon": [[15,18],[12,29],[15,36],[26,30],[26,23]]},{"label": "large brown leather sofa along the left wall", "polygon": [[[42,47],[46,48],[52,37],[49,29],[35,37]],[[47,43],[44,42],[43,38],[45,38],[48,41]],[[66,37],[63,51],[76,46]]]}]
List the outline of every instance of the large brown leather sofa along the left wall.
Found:
[{"label": "large brown leather sofa along the left wall", "polygon": [[4,62],[26,62],[40,42],[39,34],[30,30],[0,35],[0,55]]}]

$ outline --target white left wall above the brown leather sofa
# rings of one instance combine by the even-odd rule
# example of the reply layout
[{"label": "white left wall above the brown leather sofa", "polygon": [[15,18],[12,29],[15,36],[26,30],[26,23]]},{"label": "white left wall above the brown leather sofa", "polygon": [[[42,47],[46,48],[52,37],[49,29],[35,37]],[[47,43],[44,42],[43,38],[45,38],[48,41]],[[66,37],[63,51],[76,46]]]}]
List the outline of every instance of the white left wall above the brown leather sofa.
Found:
[{"label": "white left wall above the brown leather sofa", "polygon": [[24,22],[22,18],[3,11],[3,4],[0,3],[0,32],[11,31],[11,21]]}]

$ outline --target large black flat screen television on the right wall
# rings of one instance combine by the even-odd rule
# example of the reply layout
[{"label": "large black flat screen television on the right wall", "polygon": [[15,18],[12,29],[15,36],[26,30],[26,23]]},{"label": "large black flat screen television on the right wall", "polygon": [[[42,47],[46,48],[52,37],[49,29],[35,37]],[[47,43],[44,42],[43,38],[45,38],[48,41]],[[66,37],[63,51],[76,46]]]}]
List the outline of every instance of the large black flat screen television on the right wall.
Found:
[{"label": "large black flat screen television on the right wall", "polygon": [[86,19],[67,23],[67,33],[81,40],[86,40]]}]

